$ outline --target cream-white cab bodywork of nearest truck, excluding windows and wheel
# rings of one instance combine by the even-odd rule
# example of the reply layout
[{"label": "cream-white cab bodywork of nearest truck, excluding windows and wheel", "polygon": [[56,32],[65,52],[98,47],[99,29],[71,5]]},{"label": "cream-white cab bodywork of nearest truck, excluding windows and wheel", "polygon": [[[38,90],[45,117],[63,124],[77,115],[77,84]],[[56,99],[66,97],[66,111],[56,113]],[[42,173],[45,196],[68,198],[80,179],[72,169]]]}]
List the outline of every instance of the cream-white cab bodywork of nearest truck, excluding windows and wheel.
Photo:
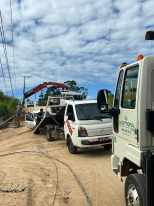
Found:
[{"label": "cream-white cab bodywork of nearest truck, excluding windows and wheel", "polygon": [[[131,88],[132,90],[136,89],[136,92],[129,92],[126,94],[126,71],[131,71],[131,69],[133,70],[133,68],[137,67],[138,75],[134,76],[136,85],[134,88]],[[126,159],[142,167],[141,153],[147,150],[154,150],[153,135],[146,129],[146,110],[154,110],[154,56],[144,57],[140,61],[120,68],[118,70],[118,76],[122,71],[123,76],[119,96],[120,114],[118,115],[117,130],[114,128],[116,120],[114,118],[112,119],[114,141],[113,155],[111,157],[112,169],[118,169],[117,162],[121,168],[118,172],[120,179],[121,176],[123,176],[122,171],[124,169],[122,170],[122,167],[125,167],[124,161],[126,161]],[[133,76],[128,79],[131,78],[133,79]],[[118,89],[118,82],[119,81],[117,81],[116,91]],[[131,94],[135,94],[133,97],[136,99],[135,108],[124,107],[122,103],[123,98],[125,98],[126,95],[131,97]],[[129,172],[128,169],[127,172]],[[126,171],[125,175],[127,175]]]}]

